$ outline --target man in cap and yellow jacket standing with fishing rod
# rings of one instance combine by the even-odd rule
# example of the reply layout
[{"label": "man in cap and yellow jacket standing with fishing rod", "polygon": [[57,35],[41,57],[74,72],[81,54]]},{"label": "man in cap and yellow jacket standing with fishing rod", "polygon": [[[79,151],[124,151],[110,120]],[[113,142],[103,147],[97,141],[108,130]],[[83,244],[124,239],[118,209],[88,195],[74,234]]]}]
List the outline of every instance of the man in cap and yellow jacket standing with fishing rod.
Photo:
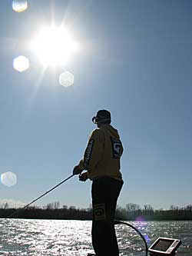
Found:
[{"label": "man in cap and yellow jacket standing with fishing rod", "polygon": [[[80,181],[91,179],[92,244],[97,256],[118,256],[118,241],[114,230],[114,213],[123,180],[120,158],[123,153],[118,131],[111,124],[107,110],[98,111],[92,118],[98,129],[92,131],[84,158],[74,167]],[[86,172],[81,173],[83,170]]]}]

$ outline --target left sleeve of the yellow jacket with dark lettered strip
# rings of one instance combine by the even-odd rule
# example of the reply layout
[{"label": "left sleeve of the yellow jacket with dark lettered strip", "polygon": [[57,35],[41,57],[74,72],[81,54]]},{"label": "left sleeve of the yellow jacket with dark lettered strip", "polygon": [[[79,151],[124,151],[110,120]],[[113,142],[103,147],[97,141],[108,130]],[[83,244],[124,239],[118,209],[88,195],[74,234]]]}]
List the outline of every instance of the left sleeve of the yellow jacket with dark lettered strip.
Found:
[{"label": "left sleeve of the yellow jacket with dark lettered strip", "polygon": [[87,148],[84,151],[84,158],[80,161],[79,167],[91,171],[101,159],[104,150],[104,135],[100,129],[96,129],[89,137]]}]

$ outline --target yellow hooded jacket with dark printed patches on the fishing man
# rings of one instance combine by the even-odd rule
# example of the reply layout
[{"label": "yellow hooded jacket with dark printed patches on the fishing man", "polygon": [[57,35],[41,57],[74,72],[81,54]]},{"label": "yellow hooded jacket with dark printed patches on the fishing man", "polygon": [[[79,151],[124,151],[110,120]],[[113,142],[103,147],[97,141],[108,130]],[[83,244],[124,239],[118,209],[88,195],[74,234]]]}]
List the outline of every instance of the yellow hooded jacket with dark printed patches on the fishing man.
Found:
[{"label": "yellow hooded jacket with dark printed patches on the fishing man", "polygon": [[122,181],[122,153],[123,146],[118,131],[111,125],[102,125],[101,128],[92,131],[79,167],[88,170],[88,178],[91,180],[108,176]]}]

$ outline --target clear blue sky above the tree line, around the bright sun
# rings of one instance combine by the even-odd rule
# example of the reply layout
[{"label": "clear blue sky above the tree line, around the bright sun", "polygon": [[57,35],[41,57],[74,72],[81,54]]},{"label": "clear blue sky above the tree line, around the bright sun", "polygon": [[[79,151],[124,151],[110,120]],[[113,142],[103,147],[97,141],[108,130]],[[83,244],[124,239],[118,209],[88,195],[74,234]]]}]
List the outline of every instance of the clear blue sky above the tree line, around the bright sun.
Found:
[{"label": "clear blue sky above the tree line, around the bright sun", "polygon": [[[192,2],[33,0],[25,12],[0,3],[0,204],[25,205],[68,178],[99,109],[121,135],[124,186],[118,205],[192,204]],[[66,26],[79,45],[45,68],[28,48],[41,25]],[[28,58],[18,72],[13,60]],[[65,88],[59,74],[70,71]],[[72,177],[35,203],[89,208],[91,181]]]}]

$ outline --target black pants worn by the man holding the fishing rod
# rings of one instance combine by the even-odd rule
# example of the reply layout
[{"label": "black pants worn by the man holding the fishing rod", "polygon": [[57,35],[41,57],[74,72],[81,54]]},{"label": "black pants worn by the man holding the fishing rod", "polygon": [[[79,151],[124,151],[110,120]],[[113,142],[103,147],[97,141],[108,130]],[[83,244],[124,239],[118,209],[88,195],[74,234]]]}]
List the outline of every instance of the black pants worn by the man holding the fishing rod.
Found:
[{"label": "black pants worn by the man holding the fishing rod", "polygon": [[114,213],[123,181],[102,177],[92,183],[92,244],[97,256],[118,256]]}]

